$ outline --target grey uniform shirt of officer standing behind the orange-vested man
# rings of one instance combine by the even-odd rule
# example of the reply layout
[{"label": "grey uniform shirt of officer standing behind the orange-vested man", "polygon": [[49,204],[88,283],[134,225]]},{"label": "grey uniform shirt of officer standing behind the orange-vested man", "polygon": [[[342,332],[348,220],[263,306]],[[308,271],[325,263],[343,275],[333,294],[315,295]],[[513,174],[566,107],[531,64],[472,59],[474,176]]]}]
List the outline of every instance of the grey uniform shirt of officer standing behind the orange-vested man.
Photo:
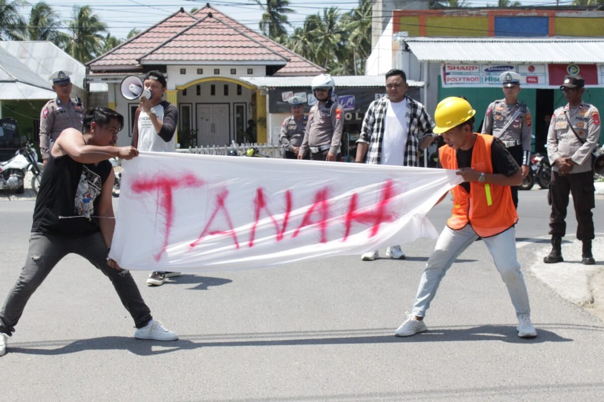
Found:
[{"label": "grey uniform shirt of officer standing behind the orange-vested man", "polygon": [[[518,116],[507,126],[506,132],[502,133],[501,130],[519,109]],[[499,99],[487,108],[482,133],[498,137],[507,147],[522,145],[522,151],[530,152],[533,131],[531,125],[530,110],[527,107],[522,110],[519,102],[508,104],[506,99]]]}]

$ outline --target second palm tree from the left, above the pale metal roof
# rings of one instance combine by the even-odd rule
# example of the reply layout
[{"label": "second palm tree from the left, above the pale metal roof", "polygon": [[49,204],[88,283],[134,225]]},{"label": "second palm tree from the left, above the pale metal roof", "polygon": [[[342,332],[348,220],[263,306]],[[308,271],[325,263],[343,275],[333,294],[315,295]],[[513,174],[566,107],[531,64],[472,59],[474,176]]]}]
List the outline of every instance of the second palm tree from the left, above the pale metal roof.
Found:
[{"label": "second palm tree from the left, above the pale metal roof", "polygon": [[27,37],[29,40],[50,40],[63,48],[69,42],[69,36],[60,31],[62,25],[57,11],[40,1],[31,7]]}]

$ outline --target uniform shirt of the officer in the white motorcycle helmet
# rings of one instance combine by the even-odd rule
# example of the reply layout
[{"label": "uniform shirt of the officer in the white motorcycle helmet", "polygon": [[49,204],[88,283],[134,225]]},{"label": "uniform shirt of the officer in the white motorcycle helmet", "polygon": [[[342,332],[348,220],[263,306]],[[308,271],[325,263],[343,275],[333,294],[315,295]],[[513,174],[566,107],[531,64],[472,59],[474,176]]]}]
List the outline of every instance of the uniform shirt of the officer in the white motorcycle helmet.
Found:
[{"label": "uniform shirt of the officer in the white motorcycle helmet", "polygon": [[339,153],[342,129],[344,128],[344,112],[341,105],[331,99],[323,104],[315,104],[308,113],[308,123],[304,132],[304,140],[300,147],[301,154],[306,154],[311,146],[330,145],[329,152]]}]

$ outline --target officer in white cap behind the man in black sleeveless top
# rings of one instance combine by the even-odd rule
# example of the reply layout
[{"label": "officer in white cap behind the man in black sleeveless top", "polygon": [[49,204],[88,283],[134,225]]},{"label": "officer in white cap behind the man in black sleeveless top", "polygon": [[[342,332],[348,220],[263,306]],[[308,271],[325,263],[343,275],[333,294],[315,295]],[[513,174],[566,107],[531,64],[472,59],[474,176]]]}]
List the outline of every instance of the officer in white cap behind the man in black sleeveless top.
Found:
[{"label": "officer in white cap behind the man in black sleeveless top", "polygon": [[57,97],[48,101],[40,113],[40,153],[45,166],[50,149],[63,130],[75,128],[82,131],[84,107],[79,96],[75,101],[69,98],[73,86],[69,74],[69,71],[56,71],[48,77],[53,80]]}]

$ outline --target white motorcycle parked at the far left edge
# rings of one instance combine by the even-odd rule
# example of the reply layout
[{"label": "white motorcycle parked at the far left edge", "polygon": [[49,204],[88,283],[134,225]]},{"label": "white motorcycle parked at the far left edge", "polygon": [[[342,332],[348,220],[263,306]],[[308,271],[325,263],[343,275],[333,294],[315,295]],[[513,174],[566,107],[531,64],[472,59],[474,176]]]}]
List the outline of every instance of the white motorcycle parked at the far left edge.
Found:
[{"label": "white motorcycle parked at the far left edge", "polygon": [[30,143],[15,152],[14,157],[0,162],[0,190],[14,190],[17,194],[25,192],[25,174],[31,171],[31,189],[38,193],[42,181],[44,165],[37,162],[37,152]]}]

